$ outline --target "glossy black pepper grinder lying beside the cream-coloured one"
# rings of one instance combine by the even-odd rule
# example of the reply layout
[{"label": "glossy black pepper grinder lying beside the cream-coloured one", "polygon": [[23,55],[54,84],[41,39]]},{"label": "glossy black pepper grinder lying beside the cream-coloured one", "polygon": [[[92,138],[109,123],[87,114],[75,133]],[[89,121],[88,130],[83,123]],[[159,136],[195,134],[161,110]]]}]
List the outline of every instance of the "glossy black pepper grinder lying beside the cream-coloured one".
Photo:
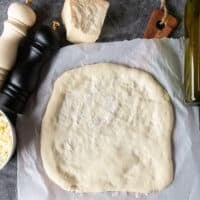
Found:
[{"label": "glossy black pepper grinder lying beside the cream-coloured one", "polygon": [[38,28],[33,38],[29,39],[28,56],[14,66],[0,92],[0,110],[13,124],[38,86],[45,63],[53,58],[59,48],[56,34],[47,26]]}]

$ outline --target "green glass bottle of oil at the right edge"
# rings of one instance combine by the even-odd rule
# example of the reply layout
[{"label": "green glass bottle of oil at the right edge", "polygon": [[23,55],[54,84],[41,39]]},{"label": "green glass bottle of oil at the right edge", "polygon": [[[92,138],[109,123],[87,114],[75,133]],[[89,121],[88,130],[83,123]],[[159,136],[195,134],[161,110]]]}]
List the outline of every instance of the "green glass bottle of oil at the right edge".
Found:
[{"label": "green glass bottle of oil at the right edge", "polygon": [[200,1],[187,0],[185,8],[185,102],[200,104]]}]

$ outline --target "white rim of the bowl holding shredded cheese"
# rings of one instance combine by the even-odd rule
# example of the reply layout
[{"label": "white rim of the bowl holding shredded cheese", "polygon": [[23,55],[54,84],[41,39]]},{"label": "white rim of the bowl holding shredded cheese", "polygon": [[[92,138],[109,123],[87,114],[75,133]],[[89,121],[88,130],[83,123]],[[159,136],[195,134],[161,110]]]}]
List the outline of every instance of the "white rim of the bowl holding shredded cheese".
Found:
[{"label": "white rim of the bowl holding shredded cheese", "polygon": [[12,125],[12,123],[10,122],[10,120],[8,119],[8,117],[5,115],[5,113],[3,111],[0,111],[0,113],[6,118],[6,120],[8,122],[9,128],[11,130],[10,134],[11,134],[11,138],[12,138],[12,147],[10,148],[9,155],[8,155],[5,163],[0,166],[0,170],[2,170],[8,164],[10,159],[12,158],[12,156],[13,156],[13,154],[15,152],[15,149],[16,149],[17,141],[16,141],[16,132],[15,132],[14,126]]}]

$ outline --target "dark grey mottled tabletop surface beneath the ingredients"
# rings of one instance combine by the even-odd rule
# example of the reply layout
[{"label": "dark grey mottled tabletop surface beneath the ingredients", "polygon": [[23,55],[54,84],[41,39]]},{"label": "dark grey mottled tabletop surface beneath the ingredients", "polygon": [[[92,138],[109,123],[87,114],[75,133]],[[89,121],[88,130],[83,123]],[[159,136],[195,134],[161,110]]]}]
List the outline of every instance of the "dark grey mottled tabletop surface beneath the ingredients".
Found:
[{"label": "dark grey mottled tabletop surface beneath the ingredients", "polygon": [[[8,5],[11,2],[14,1],[0,0],[1,31],[3,29],[3,21],[7,18]],[[37,24],[50,24],[52,19],[60,19],[63,2],[63,0],[33,0],[32,6],[38,14]],[[160,6],[160,0],[110,0],[110,3],[111,6],[100,41],[142,38],[152,10]],[[171,37],[183,36],[185,0],[168,0],[167,3],[169,10],[179,19],[179,26]],[[61,30],[61,37],[64,38],[64,29],[62,28]],[[0,172],[0,200],[16,199],[16,176],[16,156],[14,156],[9,165]]]}]

